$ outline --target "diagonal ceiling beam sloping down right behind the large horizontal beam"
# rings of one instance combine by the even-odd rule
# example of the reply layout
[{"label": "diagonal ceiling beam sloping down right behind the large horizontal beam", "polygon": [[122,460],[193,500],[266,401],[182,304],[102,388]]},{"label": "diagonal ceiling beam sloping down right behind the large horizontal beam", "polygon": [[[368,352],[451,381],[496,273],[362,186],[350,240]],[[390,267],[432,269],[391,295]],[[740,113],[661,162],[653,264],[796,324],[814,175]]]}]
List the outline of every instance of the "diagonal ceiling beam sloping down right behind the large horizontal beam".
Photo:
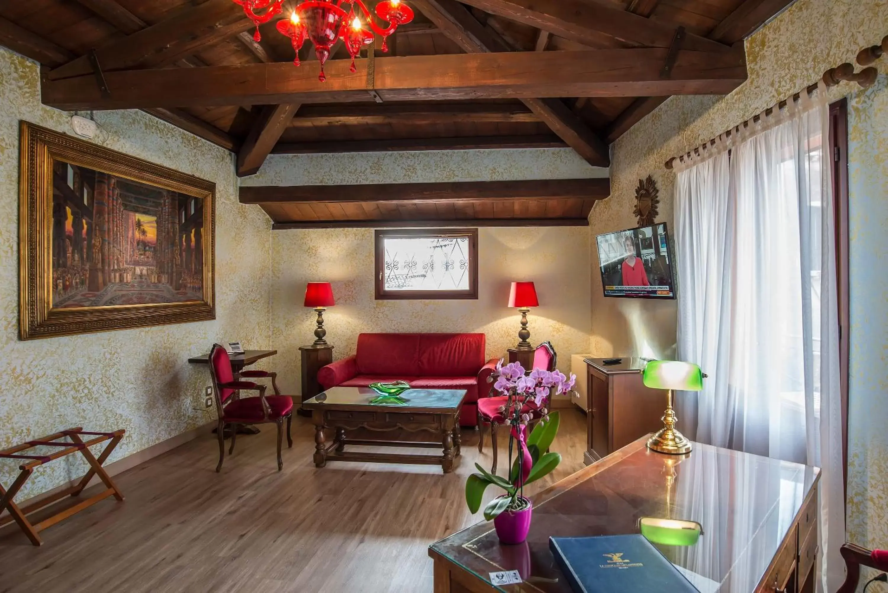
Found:
[{"label": "diagonal ceiling beam sloping down right behind the large horizontal beam", "polygon": [[[456,0],[418,0],[420,11],[428,20],[436,24],[445,35],[460,45],[464,51],[483,53],[495,51],[495,46],[480,38],[481,32],[487,29],[472,16],[463,4]],[[488,36],[489,37],[489,36]],[[497,44],[500,44],[498,41]],[[549,43],[549,34],[541,31],[536,41],[538,51],[545,50]],[[595,132],[561,102],[561,99],[523,99],[530,109],[543,123],[549,126],[559,138],[567,142],[580,156],[595,167],[610,166],[607,146]]]}]

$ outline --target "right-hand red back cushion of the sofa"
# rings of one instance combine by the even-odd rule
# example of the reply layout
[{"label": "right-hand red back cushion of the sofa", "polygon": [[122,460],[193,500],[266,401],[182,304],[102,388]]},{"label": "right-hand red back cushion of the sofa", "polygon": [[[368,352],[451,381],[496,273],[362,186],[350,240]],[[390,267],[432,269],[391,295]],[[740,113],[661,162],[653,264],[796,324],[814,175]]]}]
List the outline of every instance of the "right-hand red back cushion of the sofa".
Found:
[{"label": "right-hand red back cushion of the sofa", "polygon": [[484,334],[419,334],[418,376],[477,376]]}]

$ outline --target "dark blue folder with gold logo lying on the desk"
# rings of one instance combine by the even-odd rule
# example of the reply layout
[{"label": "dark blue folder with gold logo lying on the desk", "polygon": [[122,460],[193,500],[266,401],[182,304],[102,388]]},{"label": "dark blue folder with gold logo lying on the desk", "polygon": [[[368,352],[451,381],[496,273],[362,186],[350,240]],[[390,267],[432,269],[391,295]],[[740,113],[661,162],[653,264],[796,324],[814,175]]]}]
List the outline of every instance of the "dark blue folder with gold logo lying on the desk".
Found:
[{"label": "dark blue folder with gold logo lying on the desk", "polygon": [[549,548],[577,593],[699,593],[641,534],[550,537]]}]

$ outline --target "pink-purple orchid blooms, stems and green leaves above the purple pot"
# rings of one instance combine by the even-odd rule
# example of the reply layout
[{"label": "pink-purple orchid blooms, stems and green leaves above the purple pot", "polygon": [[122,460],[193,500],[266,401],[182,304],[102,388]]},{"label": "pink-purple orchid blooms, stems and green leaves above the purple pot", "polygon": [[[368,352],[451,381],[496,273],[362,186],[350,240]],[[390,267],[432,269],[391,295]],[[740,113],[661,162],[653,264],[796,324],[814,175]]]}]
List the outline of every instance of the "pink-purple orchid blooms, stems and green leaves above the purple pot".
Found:
[{"label": "pink-purple orchid blooms, stems and green leaves above the purple pot", "polygon": [[[559,427],[558,412],[549,412],[546,406],[552,394],[572,391],[576,376],[569,378],[560,371],[547,371],[535,368],[528,375],[518,362],[496,365],[494,390],[506,396],[506,402],[499,408],[499,414],[510,425],[509,431],[509,477],[503,478],[490,473],[475,463],[480,473],[473,473],[465,482],[465,502],[472,513],[478,512],[484,491],[491,484],[505,490],[488,502],[484,518],[488,521],[506,510],[527,508],[524,486],[549,474],[561,463],[561,455],[549,452]],[[527,424],[539,418],[530,435]],[[515,454],[514,462],[512,455]]]}]

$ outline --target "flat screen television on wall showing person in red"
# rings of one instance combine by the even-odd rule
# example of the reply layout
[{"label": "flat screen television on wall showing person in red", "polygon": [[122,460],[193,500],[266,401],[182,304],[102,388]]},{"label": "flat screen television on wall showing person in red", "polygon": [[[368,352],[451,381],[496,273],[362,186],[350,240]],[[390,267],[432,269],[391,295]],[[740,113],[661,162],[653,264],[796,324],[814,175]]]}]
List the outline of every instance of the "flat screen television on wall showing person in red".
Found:
[{"label": "flat screen television on wall showing person in red", "polygon": [[605,297],[675,298],[666,223],[599,234]]}]

